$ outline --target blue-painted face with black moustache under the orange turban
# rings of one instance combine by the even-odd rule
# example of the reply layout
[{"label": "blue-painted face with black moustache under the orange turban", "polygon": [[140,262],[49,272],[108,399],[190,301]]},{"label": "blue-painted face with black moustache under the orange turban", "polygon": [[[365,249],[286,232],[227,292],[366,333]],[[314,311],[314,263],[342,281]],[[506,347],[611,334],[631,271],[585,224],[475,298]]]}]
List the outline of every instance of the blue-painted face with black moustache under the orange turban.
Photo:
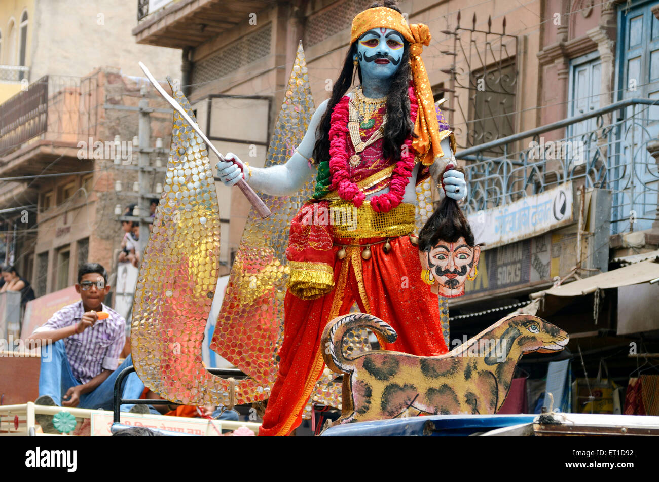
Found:
[{"label": "blue-painted face with black moustache under the orange turban", "polygon": [[403,36],[391,28],[374,28],[357,40],[357,58],[364,78],[387,79],[403,59]]}]

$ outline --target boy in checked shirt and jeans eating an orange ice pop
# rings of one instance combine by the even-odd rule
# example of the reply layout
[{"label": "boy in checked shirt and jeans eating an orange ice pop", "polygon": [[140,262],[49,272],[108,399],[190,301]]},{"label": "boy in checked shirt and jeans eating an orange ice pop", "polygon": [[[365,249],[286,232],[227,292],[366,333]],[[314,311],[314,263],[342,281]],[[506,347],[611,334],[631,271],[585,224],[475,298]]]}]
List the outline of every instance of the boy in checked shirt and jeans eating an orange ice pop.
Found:
[{"label": "boy in checked shirt and jeans eating an orange ice pop", "polygon": [[[26,340],[41,341],[42,364],[37,405],[112,410],[115,380],[132,366],[130,355],[119,365],[126,342],[126,321],[103,304],[109,292],[107,272],[99,263],[78,269],[76,292],[80,301],[65,306]],[[99,319],[98,311],[109,313]],[[139,398],[144,390],[136,373],[123,382],[123,398]],[[148,413],[144,406],[123,405],[126,412]],[[57,433],[51,415],[36,415],[44,433]]]}]

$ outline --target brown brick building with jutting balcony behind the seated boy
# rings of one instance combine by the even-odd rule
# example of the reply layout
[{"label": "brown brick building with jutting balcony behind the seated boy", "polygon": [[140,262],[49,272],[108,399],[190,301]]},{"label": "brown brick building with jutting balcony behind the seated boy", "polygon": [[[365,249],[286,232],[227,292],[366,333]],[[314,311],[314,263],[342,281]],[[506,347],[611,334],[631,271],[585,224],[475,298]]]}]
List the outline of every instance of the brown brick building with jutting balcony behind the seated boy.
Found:
[{"label": "brown brick building with jutting balcony behind the seated boy", "polygon": [[[104,67],[71,86],[49,91],[47,76],[19,92],[0,109],[28,106],[13,119],[2,143],[0,209],[5,217],[5,259],[16,266],[37,296],[76,282],[78,266],[95,261],[111,270],[123,232],[115,213],[137,200],[138,102],[144,80]],[[146,95],[150,146],[168,142],[171,111],[154,91]],[[117,142],[115,143],[115,136]],[[154,151],[142,177],[158,197],[164,151]],[[115,160],[117,159],[117,160]],[[158,167],[160,165],[160,167]],[[117,189],[119,188],[119,189]]]}]

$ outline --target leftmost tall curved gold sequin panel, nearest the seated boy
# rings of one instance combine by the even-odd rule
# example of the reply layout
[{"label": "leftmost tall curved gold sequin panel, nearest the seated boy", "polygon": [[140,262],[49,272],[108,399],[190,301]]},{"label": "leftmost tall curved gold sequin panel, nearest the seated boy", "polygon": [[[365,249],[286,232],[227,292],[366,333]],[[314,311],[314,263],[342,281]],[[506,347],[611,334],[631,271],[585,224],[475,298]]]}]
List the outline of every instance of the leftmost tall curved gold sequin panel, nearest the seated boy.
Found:
[{"label": "leftmost tall curved gold sequin panel, nearest the seated boy", "polygon": [[[194,119],[183,94],[173,95]],[[163,194],[133,302],[131,352],[146,387],[186,405],[229,398],[229,383],[208,373],[201,359],[219,267],[213,174],[206,145],[175,112]]]}]

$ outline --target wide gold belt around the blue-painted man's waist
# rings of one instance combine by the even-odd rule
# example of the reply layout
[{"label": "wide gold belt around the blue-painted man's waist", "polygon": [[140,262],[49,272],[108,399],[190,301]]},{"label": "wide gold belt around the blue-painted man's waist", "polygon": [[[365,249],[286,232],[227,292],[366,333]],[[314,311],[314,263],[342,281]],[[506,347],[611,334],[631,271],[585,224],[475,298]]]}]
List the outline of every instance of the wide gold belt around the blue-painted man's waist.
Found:
[{"label": "wide gold belt around the blue-painted man's waist", "polygon": [[395,238],[415,228],[415,205],[401,203],[388,213],[376,213],[366,200],[360,207],[344,200],[331,200],[334,238]]}]

